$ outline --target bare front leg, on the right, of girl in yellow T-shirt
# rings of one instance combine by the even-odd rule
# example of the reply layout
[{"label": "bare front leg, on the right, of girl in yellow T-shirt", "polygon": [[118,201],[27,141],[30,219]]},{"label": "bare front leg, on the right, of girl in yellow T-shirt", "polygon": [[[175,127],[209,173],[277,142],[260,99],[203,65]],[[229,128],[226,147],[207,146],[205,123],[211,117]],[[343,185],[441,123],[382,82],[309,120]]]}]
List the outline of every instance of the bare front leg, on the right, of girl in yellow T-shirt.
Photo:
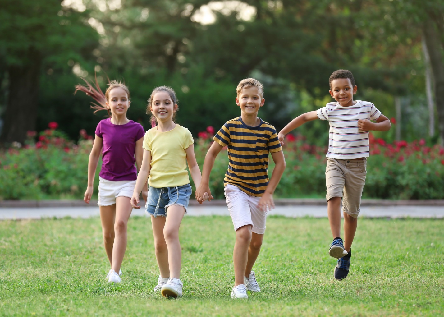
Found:
[{"label": "bare front leg, on the right, of girl in yellow T-shirt", "polygon": [[178,205],[169,206],[166,210],[163,236],[168,247],[168,263],[170,265],[170,278],[180,278],[182,265],[182,249],[179,242],[179,227],[185,215],[185,208]]}]

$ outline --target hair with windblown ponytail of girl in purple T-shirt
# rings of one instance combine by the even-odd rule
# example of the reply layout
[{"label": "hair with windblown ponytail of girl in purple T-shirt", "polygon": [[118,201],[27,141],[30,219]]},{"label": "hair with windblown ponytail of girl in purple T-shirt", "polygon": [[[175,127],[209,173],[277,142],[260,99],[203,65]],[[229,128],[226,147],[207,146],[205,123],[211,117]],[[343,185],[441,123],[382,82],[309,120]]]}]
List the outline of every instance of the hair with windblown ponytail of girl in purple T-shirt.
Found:
[{"label": "hair with windblown ponytail of girl in purple T-shirt", "polygon": [[106,110],[108,112],[108,117],[112,117],[111,114],[111,110],[108,109],[107,107],[107,102],[108,102],[108,98],[109,98],[109,94],[111,89],[113,88],[117,88],[120,87],[122,88],[128,95],[128,100],[130,99],[130,90],[128,89],[128,87],[122,83],[121,80],[117,81],[117,80],[109,80],[108,79],[108,88],[105,91],[105,94],[103,94],[102,90],[100,89],[99,83],[97,82],[97,76],[94,75],[95,77],[95,87],[89,83],[86,79],[82,78],[83,81],[86,83],[86,86],[83,85],[75,85],[75,91],[74,94],[77,91],[83,91],[85,94],[87,94],[88,96],[91,96],[95,101],[97,101],[97,103],[93,103],[91,102],[93,105],[91,106],[91,109],[95,109],[94,113],[96,113],[97,111],[100,110]]}]

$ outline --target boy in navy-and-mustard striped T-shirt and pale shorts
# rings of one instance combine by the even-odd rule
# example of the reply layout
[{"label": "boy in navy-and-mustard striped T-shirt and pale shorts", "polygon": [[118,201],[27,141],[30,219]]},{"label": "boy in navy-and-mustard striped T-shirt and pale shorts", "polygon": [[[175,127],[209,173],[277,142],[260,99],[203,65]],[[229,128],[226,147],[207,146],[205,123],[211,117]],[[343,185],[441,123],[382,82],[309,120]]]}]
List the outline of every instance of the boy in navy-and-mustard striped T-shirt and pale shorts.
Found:
[{"label": "boy in navy-and-mustard striped T-shirt and pale shorts", "polygon": [[[263,86],[256,79],[243,79],[236,88],[241,116],[227,121],[214,136],[202,169],[196,199],[202,202],[214,160],[228,146],[230,163],[224,178],[225,197],[236,231],[234,244],[234,288],[231,298],[248,298],[246,291],[259,292],[253,268],[261,250],[267,211],[274,208],[273,193],[285,170],[285,158],[274,127],[258,118],[264,105]],[[276,163],[269,180],[268,153]],[[246,286],[245,286],[246,284]]]}]

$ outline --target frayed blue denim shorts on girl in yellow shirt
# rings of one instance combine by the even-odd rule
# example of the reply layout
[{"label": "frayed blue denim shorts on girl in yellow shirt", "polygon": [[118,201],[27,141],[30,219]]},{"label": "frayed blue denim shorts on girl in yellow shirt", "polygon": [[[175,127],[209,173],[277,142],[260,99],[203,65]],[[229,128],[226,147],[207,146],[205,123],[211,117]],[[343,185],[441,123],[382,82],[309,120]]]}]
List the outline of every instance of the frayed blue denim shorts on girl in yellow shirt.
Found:
[{"label": "frayed blue denim shorts on girl in yellow shirt", "polygon": [[166,209],[172,205],[188,207],[191,197],[191,185],[186,184],[176,187],[155,188],[149,186],[148,199],[145,207],[147,214],[157,217],[166,217]]}]

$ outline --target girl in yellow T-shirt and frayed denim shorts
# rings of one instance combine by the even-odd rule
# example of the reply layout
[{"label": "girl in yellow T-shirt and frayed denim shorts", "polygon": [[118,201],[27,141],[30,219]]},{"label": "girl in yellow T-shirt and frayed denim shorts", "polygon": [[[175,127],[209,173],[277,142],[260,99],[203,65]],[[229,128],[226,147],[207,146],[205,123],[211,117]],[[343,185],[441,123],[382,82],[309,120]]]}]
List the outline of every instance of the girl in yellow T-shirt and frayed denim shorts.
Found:
[{"label": "girl in yellow T-shirt and frayed denim shorts", "polygon": [[[154,290],[161,290],[164,297],[182,296],[183,284],[179,279],[182,250],[178,234],[191,195],[186,162],[194,184],[199,186],[201,180],[193,137],[188,129],[174,123],[177,110],[173,89],[162,86],[153,90],[147,106],[147,114],[152,114],[153,128],[143,139],[142,167],[131,198],[131,205],[139,209],[139,194],[148,179],[146,212],[151,215],[160,271]],[[158,126],[155,126],[156,121]]]}]

